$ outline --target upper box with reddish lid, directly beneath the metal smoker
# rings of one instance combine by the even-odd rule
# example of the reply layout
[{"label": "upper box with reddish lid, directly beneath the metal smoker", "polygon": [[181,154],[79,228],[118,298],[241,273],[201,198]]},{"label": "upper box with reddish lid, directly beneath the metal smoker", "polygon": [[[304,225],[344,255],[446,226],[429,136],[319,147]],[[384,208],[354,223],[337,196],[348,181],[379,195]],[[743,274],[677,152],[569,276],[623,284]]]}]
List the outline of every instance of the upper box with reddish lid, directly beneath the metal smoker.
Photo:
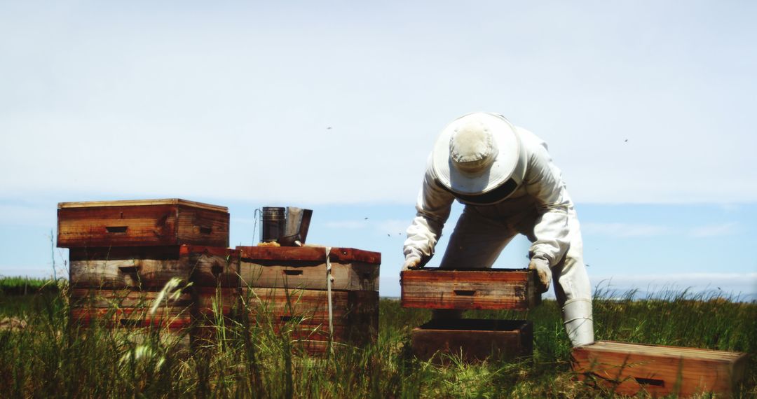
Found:
[{"label": "upper box with reddish lid, directly beneath the metal smoker", "polygon": [[[238,246],[243,286],[326,289],[326,249],[322,247]],[[332,248],[332,289],[378,291],[381,254]]]}]

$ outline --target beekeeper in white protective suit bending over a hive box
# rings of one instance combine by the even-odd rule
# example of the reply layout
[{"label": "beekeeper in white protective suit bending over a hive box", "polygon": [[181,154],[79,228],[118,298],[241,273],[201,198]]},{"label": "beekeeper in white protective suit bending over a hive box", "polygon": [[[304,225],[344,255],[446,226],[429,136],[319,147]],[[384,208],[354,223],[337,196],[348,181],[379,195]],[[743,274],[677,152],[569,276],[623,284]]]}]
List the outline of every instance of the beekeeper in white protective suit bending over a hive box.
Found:
[{"label": "beekeeper in white protective suit bending over a hive box", "polygon": [[[591,292],[581,229],[547,143],[496,113],[469,113],[439,135],[407,228],[403,270],[422,268],[450,216],[465,204],[440,268],[491,268],[516,234],[531,241],[528,268],[541,292],[554,281],[565,331],[573,346],[594,340]],[[434,311],[434,317],[460,317]]]}]

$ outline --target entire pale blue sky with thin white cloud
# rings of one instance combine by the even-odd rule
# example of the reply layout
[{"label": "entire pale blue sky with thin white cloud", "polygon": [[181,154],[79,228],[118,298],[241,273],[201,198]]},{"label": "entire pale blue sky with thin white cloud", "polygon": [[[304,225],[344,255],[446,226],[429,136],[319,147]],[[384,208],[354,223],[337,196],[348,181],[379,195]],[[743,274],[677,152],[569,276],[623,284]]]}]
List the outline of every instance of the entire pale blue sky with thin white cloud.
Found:
[{"label": "entire pale blue sky with thin white cloud", "polygon": [[395,295],[435,136],[489,110],[550,144],[595,283],[757,292],[755,8],[0,2],[0,274],[49,271],[58,202],[182,197],[232,243],[308,206]]}]

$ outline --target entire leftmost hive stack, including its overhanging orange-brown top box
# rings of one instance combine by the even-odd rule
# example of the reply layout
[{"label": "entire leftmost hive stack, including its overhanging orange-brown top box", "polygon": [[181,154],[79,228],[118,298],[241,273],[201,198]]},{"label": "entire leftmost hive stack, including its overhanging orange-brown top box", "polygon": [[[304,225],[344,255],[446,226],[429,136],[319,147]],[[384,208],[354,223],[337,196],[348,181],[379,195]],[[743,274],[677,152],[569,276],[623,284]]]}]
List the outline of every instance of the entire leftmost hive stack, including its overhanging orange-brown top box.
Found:
[{"label": "entire leftmost hive stack, including its overhanging orange-brown top box", "polygon": [[[223,206],[183,199],[58,204],[72,316],[85,324],[97,318],[113,327],[185,331],[207,324],[213,302],[228,316],[239,286],[238,256],[228,245]],[[174,278],[176,288],[161,293]]]}]

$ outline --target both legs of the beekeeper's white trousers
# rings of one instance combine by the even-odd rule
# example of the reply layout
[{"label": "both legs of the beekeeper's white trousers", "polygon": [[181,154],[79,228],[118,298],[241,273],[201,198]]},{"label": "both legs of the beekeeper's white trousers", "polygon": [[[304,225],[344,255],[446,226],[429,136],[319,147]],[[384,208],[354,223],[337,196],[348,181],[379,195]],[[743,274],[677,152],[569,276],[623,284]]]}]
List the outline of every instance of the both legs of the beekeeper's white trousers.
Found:
[{"label": "both legs of the beekeeper's white trousers", "polygon": [[[482,216],[466,206],[460,215],[440,268],[491,268],[500,252],[515,237],[522,233],[534,242],[534,224],[537,215],[514,215],[518,221],[495,221]],[[512,223],[510,223],[512,222]],[[513,227],[513,224],[516,227]],[[591,285],[584,264],[584,244],[581,227],[575,209],[569,212],[571,230],[570,248],[552,268],[555,296],[562,308],[565,332],[573,346],[593,342],[593,319],[591,311]],[[434,311],[433,317],[460,317],[462,311]]]}]

